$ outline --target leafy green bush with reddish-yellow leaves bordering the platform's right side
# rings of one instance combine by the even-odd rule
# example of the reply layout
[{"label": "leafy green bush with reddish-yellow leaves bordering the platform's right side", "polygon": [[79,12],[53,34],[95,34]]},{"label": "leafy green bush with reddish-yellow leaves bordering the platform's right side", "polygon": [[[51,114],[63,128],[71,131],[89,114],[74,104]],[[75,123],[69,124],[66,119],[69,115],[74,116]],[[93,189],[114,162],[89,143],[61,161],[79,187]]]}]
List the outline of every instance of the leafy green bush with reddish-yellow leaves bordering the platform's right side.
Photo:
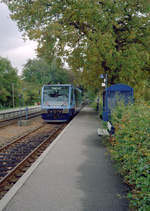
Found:
[{"label": "leafy green bush with reddish-yellow leaves bordering the platform's right side", "polygon": [[150,210],[150,106],[121,105],[112,113],[115,134],[110,152],[120,173],[131,187],[131,207]]}]

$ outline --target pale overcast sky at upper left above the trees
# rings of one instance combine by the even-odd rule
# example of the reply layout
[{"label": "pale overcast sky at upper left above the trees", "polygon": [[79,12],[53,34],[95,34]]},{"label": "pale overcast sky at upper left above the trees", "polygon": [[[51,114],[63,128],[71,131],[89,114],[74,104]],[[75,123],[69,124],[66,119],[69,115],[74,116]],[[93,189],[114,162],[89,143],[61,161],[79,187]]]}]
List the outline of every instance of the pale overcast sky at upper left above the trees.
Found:
[{"label": "pale overcast sky at upper left above the trees", "polygon": [[20,74],[27,60],[36,57],[36,46],[34,41],[24,42],[16,23],[9,17],[7,6],[0,3],[0,56],[9,59]]}]

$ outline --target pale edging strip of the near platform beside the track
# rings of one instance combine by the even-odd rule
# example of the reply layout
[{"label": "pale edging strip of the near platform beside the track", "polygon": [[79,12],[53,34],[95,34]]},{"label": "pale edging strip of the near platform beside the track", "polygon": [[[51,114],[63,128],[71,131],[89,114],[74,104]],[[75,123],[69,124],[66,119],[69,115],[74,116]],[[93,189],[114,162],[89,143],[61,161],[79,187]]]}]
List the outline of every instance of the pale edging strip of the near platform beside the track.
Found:
[{"label": "pale edging strip of the near platform beside the track", "polygon": [[[73,121],[73,120],[72,120]],[[65,129],[57,136],[57,138],[50,144],[50,146],[40,155],[40,157],[32,164],[32,166],[25,172],[25,174],[14,184],[14,186],[4,195],[0,200],[0,211],[2,211],[8,202],[13,198],[17,191],[26,182],[32,172],[38,167],[38,165],[43,161],[46,155],[52,150],[52,148],[59,141],[60,137],[66,132],[66,130],[71,126],[72,121],[65,127]]]}]

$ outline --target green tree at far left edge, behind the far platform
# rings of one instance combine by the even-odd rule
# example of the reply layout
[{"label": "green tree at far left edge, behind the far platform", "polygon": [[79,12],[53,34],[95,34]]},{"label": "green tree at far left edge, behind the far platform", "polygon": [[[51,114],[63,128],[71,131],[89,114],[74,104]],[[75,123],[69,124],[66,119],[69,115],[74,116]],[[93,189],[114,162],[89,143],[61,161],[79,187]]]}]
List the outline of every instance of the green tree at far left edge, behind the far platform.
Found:
[{"label": "green tree at far left edge, behind the far platform", "polygon": [[13,97],[16,104],[19,86],[17,70],[8,59],[0,57],[0,107],[12,106]]}]

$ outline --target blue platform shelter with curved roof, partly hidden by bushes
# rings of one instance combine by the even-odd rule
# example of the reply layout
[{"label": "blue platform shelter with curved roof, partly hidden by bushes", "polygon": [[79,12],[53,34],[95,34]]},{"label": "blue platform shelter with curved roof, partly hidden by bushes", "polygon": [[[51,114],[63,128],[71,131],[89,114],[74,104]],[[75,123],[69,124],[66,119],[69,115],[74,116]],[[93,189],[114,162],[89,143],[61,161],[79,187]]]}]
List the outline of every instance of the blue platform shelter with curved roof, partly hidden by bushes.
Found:
[{"label": "blue platform shelter with curved roof, partly hidden by bushes", "polygon": [[111,111],[119,102],[125,105],[133,103],[133,88],[125,84],[115,84],[106,88],[103,92],[103,114],[104,121],[111,119]]}]

